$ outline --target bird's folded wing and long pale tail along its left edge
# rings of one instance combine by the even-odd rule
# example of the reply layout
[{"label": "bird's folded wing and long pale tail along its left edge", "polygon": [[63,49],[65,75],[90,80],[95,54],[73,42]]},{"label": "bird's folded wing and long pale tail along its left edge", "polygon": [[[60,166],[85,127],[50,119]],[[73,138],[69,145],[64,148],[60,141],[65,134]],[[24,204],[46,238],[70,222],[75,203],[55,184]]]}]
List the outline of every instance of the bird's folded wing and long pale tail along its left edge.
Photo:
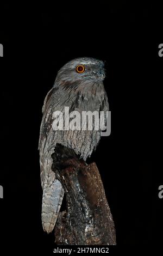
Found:
[{"label": "bird's folded wing and long pale tail along its left edge", "polygon": [[53,105],[56,103],[54,99],[57,101],[56,94],[56,88],[52,88],[45,98],[39,139],[41,184],[43,188],[41,216],[43,230],[47,233],[50,233],[55,226],[64,197],[64,189],[60,181],[55,179],[55,173],[52,172],[52,153],[48,151],[48,140],[52,136]]}]

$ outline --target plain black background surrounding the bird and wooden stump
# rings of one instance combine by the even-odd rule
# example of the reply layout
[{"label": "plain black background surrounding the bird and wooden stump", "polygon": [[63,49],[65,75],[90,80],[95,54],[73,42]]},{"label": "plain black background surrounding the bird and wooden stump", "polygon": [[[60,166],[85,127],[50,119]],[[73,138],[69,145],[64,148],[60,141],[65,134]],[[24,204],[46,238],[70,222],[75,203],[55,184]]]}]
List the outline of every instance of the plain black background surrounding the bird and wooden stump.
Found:
[{"label": "plain black background surrounding the bird and wooden stump", "polygon": [[0,18],[4,45],[1,248],[3,241],[13,242],[16,251],[21,245],[36,252],[51,252],[54,247],[54,234],[43,233],[41,226],[37,151],[41,108],[57,71],[68,60],[82,56],[106,61],[111,135],[101,139],[89,162],[96,161],[101,173],[117,244],[162,242],[158,186],[163,181],[154,144],[160,142],[155,121],[157,115],[161,118],[163,58],[158,56],[161,41],[154,37],[159,17],[161,11],[149,2],[101,1],[90,7],[86,2],[30,8],[4,5]]}]

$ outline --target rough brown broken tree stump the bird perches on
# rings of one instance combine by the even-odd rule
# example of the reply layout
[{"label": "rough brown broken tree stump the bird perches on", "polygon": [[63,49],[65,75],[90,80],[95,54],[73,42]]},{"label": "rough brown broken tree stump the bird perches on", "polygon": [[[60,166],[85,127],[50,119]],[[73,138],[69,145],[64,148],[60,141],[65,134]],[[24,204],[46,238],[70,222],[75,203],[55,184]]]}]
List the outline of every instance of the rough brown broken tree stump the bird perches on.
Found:
[{"label": "rough brown broken tree stump the bird perches on", "polygon": [[87,165],[72,149],[57,144],[52,155],[64,186],[67,211],[55,225],[58,245],[116,245],[114,222],[96,163]]}]

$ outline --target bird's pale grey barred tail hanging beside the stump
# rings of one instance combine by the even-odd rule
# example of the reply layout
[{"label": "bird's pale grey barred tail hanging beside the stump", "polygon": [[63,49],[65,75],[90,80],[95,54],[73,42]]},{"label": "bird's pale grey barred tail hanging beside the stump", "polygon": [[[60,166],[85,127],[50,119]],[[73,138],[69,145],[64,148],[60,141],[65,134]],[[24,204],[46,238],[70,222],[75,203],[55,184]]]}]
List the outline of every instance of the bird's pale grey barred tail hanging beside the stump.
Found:
[{"label": "bird's pale grey barred tail hanging beside the stump", "polygon": [[51,233],[55,226],[63,197],[64,188],[57,179],[51,186],[43,188],[42,227],[47,233]]}]

